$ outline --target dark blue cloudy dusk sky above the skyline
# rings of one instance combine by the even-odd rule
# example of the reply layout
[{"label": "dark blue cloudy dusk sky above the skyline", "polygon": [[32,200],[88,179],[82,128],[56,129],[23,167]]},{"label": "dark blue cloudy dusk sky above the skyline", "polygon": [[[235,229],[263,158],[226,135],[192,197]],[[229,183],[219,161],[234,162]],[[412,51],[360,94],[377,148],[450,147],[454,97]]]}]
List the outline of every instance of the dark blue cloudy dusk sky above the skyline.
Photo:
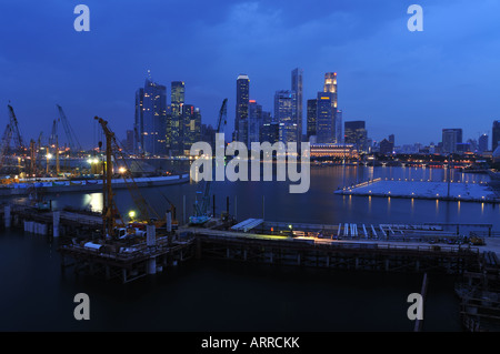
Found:
[{"label": "dark blue cloudy dusk sky above the skyline", "polygon": [[[90,32],[73,29],[79,3],[90,8]],[[411,3],[423,8],[423,32],[407,29]],[[228,98],[229,134],[239,73],[272,111],[274,91],[300,67],[304,104],[324,72],[338,72],[344,120],[366,120],[374,140],[428,144],[442,128],[477,138],[500,118],[499,19],[497,0],[2,1],[0,130],[11,100],[26,140],[50,134],[56,104],[86,145],[94,115],[121,139],[151,70],[169,95],[171,81],[184,81],[203,122]]]}]

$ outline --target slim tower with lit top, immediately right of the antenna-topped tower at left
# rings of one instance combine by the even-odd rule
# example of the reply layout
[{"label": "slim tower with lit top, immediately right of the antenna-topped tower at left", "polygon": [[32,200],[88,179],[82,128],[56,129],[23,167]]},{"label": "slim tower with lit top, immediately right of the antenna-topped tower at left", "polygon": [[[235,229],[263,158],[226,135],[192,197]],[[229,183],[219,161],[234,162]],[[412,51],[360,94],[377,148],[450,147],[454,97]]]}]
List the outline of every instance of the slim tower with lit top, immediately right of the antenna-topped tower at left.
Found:
[{"label": "slim tower with lit top, immediately right of the antenna-topped tower at left", "polygon": [[167,118],[167,149],[171,154],[182,152],[182,105],[186,87],[183,81],[170,83],[170,110]]}]

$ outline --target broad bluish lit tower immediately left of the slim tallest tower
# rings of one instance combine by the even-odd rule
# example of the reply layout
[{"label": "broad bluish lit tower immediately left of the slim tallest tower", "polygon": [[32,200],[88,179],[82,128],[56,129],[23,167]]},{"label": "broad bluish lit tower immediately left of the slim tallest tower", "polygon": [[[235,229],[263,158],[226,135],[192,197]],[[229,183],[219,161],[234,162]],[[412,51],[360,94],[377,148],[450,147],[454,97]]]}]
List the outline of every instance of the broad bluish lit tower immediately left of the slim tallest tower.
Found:
[{"label": "broad bluish lit tower immediately left of the slim tallest tower", "polygon": [[280,141],[297,142],[298,125],[297,94],[294,91],[280,90],[274,94],[274,120],[280,124]]}]

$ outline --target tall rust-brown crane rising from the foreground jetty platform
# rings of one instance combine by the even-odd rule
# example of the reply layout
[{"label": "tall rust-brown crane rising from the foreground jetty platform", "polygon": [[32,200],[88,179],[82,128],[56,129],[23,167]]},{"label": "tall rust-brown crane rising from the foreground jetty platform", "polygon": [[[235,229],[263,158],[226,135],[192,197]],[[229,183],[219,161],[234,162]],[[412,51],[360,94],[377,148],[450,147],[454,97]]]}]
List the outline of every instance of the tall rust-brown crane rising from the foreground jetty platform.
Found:
[{"label": "tall rust-brown crane rising from the foreground jetty platform", "polygon": [[127,186],[132,195],[132,200],[136,206],[140,211],[140,216],[142,219],[146,219],[148,223],[154,223],[157,226],[161,225],[162,221],[159,220],[156,211],[149,206],[142,194],[139,192],[139,188],[137,186],[136,181],[133,180],[132,173],[127,164],[126,156],[122,153],[122,149],[120,149],[120,145],[118,144],[114,133],[108,127],[108,122],[99,117],[96,117],[94,119],[100,123],[106,136],[106,163],[103,166],[103,169],[106,169],[103,171],[104,205],[102,212],[104,232],[107,232],[107,234],[110,236],[114,236],[117,230],[116,223],[117,216],[121,221],[120,223],[121,227],[124,226],[123,219],[121,218],[120,212],[114,203],[113,200],[114,194],[111,188],[111,180],[113,174],[113,166],[112,166],[113,158],[114,161],[117,161],[117,163],[119,160],[121,160],[126,166],[120,174],[122,175],[124,182],[127,183]]}]

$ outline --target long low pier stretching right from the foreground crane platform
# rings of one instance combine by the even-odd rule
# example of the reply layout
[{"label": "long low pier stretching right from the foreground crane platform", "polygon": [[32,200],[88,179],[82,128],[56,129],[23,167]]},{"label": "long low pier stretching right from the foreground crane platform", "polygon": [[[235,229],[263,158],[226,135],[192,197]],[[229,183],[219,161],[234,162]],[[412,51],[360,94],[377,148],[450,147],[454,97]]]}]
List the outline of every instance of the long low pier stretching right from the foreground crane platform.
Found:
[{"label": "long low pier stretching right from the foreground crane platform", "polygon": [[461,244],[292,237],[202,227],[181,227],[179,233],[197,241],[199,257],[279,265],[461,274],[477,270],[481,259],[479,247]]}]

